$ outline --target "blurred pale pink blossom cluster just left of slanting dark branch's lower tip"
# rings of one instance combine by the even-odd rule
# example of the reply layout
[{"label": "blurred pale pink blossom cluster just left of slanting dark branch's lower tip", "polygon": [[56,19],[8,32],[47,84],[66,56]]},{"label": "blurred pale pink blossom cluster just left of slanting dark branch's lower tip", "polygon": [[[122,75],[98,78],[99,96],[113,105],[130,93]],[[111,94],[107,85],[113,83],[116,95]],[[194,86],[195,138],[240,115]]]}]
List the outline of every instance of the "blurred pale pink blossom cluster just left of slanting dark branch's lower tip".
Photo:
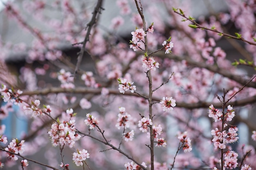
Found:
[{"label": "blurred pale pink blossom cluster just left of slanting dark branch's lower tip", "polygon": [[61,69],[58,73],[58,80],[61,82],[61,88],[75,88],[74,77],[69,71]]}]

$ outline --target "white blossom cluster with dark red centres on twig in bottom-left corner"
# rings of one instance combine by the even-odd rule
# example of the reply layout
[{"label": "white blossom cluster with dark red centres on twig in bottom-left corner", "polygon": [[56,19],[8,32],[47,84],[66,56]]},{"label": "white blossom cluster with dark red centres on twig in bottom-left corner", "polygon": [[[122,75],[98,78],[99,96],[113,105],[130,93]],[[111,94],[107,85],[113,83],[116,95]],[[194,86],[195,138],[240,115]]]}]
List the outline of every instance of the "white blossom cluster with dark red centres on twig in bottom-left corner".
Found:
[{"label": "white blossom cluster with dark red centres on twig in bottom-left corner", "polygon": [[22,154],[24,152],[24,140],[18,141],[18,139],[13,139],[10,144],[8,145],[7,148],[4,148],[4,150],[8,151],[7,152],[7,157],[9,157],[11,160],[18,160],[18,157],[16,155],[13,155],[9,152],[13,152],[15,154]]}]

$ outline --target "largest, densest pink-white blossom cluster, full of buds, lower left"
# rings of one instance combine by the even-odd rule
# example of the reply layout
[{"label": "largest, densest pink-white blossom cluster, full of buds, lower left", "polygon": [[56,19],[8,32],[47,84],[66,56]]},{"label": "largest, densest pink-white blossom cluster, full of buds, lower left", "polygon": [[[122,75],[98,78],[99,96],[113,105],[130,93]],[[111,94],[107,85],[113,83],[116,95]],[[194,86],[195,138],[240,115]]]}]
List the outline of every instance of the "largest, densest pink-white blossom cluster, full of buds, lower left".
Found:
[{"label": "largest, densest pink-white blossom cluster, full of buds, lower left", "polygon": [[51,129],[48,131],[49,136],[51,137],[52,145],[54,147],[60,145],[64,146],[65,144],[69,145],[72,148],[75,144],[75,141],[81,138],[81,135],[76,133],[74,127],[75,120],[54,122]]}]

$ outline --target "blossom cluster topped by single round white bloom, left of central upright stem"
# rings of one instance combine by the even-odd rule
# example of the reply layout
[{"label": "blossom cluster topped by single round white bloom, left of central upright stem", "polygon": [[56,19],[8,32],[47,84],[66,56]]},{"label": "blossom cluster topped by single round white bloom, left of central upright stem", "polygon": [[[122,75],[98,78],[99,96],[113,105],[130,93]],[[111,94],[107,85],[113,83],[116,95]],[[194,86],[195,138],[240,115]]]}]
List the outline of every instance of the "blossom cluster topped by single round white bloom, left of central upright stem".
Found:
[{"label": "blossom cluster topped by single round white bloom, left of central upright stem", "polygon": [[120,129],[121,127],[124,127],[125,129],[129,128],[131,115],[128,114],[127,112],[124,113],[125,111],[124,107],[120,107],[119,111],[120,113],[118,114],[116,128],[118,129]]}]

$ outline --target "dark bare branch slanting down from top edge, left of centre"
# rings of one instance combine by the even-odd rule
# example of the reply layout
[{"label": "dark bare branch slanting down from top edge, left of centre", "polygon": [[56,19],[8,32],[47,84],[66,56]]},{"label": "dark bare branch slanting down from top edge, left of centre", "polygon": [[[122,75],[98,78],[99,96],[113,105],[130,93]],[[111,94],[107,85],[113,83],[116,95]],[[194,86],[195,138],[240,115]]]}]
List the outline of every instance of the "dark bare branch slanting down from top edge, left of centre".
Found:
[{"label": "dark bare branch slanting down from top edge, left of centre", "polygon": [[82,58],[83,58],[83,54],[85,52],[85,44],[86,42],[89,41],[89,35],[90,35],[90,32],[91,32],[91,29],[92,29],[92,26],[96,23],[96,17],[97,17],[97,14],[101,13],[101,9],[102,9],[102,2],[103,0],[98,0],[95,8],[94,8],[94,11],[93,11],[93,15],[92,15],[92,19],[90,20],[90,22],[87,24],[87,27],[86,29],[88,28],[87,30],[87,33],[85,35],[85,39],[83,40],[83,46],[79,52],[79,55],[77,57],[77,62],[76,62],[76,68],[75,68],[75,71],[74,71],[74,76],[76,75],[76,72],[78,71],[79,69],[79,66],[82,62]]}]

